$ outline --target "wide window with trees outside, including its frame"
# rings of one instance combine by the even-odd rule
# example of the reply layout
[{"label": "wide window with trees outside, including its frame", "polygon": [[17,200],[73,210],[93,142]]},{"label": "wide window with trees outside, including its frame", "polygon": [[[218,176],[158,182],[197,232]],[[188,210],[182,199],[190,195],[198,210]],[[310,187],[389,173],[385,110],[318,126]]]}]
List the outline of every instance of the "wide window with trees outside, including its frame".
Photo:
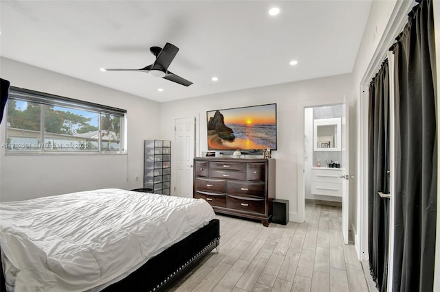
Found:
[{"label": "wide window with trees outside, including its frame", "polygon": [[10,88],[7,153],[125,153],[126,110]]}]

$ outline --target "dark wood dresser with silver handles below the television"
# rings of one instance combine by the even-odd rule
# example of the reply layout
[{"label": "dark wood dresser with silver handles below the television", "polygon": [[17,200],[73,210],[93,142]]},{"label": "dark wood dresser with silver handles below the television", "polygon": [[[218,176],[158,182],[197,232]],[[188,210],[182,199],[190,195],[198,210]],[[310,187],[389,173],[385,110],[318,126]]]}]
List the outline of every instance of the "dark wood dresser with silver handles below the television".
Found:
[{"label": "dark wood dresser with silver handles below the television", "polygon": [[214,212],[259,219],[272,217],[275,198],[274,158],[194,158],[194,197]]}]

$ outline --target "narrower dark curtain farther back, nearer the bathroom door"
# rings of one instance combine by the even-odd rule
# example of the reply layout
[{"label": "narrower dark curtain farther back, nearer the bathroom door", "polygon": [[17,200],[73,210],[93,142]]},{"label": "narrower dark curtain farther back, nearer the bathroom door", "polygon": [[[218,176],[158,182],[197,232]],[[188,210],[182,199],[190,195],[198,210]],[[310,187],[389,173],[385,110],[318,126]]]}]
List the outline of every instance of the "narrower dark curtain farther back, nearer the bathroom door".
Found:
[{"label": "narrower dark curtain farther back, nearer the bathroom door", "polygon": [[369,263],[379,291],[388,276],[389,193],[389,75],[388,60],[373,78],[369,90]]}]

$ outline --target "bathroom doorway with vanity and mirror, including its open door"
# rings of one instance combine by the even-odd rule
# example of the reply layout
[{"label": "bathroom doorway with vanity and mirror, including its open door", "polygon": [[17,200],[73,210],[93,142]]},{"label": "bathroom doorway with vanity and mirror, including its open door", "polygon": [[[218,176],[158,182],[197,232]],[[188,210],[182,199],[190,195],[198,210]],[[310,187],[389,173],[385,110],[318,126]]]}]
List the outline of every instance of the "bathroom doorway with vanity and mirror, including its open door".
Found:
[{"label": "bathroom doorway with vanity and mirror, including its open door", "polygon": [[344,104],[304,108],[305,201],[340,206],[348,243],[347,113]]}]

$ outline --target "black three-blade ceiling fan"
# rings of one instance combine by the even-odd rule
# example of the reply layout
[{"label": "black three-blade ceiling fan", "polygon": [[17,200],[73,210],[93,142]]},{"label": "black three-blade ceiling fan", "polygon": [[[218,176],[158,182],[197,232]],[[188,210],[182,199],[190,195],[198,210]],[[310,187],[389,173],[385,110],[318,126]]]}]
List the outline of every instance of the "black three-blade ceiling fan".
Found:
[{"label": "black three-blade ceiling fan", "polygon": [[164,49],[162,49],[161,47],[151,47],[150,51],[156,57],[156,60],[153,64],[148,65],[142,69],[101,69],[101,70],[102,71],[142,71],[151,74],[155,77],[164,78],[166,80],[170,80],[172,82],[176,82],[184,86],[190,86],[192,84],[192,82],[168,71],[168,66],[170,66],[171,62],[173,61],[174,57],[179,51],[178,47],[167,42],[164,46]]}]

